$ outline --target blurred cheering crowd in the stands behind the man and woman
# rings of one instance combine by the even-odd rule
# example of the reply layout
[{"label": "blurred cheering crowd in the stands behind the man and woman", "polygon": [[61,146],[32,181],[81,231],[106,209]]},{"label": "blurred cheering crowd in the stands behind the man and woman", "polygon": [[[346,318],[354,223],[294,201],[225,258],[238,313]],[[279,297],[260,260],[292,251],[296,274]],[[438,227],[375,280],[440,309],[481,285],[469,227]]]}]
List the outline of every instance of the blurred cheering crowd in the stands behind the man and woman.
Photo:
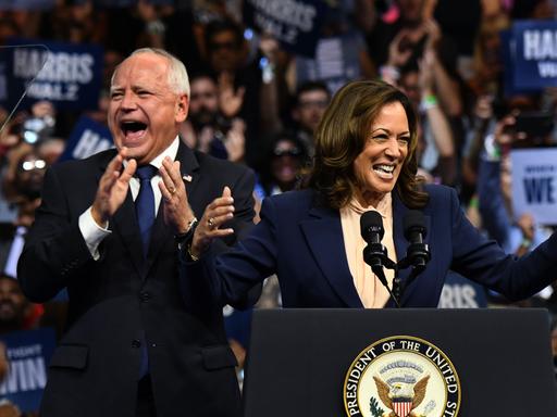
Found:
[{"label": "blurred cheering crowd in the stands behind the man and woman", "polygon": [[[550,225],[540,225],[528,213],[512,214],[509,152],[556,144],[557,90],[504,93],[499,31],[517,20],[555,20],[555,3],[325,2],[329,12],[314,58],[288,52],[271,35],[246,27],[238,0],[139,0],[121,7],[108,0],[58,0],[47,11],[0,11],[0,45],[24,37],[102,46],[98,109],[86,114],[103,124],[115,65],[138,47],[174,53],[186,64],[191,86],[182,140],[250,166],[258,177],[257,202],[302,181],[314,153],[313,132],[344,83],[383,78],[405,91],[420,114],[420,174],[455,187],[472,223],[509,253],[521,256],[542,242]],[[10,111],[0,109],[1,125]],[[546,129],[519,130],[519,114],[531,112],[550,115],[552,123]],[[37,326],[63,330],[63,294],[45,305],[27,303],[15,265],[40,203],[42,175],[62,154],[82,114],[39,101],[18,109],[0,131],[0,333]],[[487,298],[490,305],[517,305],[495,293]],[[519,305],[557,314],[557,292],[548,288]],[[259,307],[276,306],[280,291],[270,277]],[[242,359],[245,341],[232,343]],[[8,406],[0,405],[0,416],[9,415],[2,414]]]}]

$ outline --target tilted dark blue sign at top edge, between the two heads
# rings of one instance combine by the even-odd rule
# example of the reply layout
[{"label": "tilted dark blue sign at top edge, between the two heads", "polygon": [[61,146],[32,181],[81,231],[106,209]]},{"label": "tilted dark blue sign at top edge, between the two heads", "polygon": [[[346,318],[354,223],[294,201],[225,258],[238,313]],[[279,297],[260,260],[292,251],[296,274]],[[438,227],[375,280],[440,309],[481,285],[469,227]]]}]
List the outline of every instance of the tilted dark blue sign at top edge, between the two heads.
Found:
[{"label": "tilted dark blue sign at top edge, between the two heads", "polygon": [[246,0],[244,22],[273,36],[287,51],[313,56],[327,10],[324,0]]}]

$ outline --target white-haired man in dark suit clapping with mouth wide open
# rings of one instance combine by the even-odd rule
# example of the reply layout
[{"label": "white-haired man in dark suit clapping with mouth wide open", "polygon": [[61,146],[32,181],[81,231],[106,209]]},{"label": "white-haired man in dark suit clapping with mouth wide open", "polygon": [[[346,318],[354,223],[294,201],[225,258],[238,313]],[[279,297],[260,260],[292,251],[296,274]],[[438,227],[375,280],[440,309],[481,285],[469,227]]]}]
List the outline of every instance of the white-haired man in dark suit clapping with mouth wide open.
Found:
[{"label": "white-haired man in dark suit clapping with mouth wide open", "polygon": [[[162,50],[135,51],[112,78],[109,126],[116,150],[46,174],[18,264],[32,301],[63,288],[70,296],[44,417],[239,413],[222,305],[198,277],[178,281],[177,260],[195,213],[225,187],[224,198],[232,191],[235,201],[226,230],[237,237],[249,228],[253,176],[181,142],[188,98],[180,61]],[[234,240],[224,235],[226,243]]]}]

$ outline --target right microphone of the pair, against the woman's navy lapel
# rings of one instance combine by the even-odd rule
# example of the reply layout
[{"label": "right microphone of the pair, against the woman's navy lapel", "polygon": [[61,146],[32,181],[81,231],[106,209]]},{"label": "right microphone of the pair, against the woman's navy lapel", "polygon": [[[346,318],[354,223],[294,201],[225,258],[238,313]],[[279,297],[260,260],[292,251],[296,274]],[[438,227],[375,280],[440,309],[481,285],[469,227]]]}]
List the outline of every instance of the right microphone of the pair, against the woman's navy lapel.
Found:
[{"label": "right microphone of the pair, against the woman's navy lapel", "polygon": [[423,242],[428,236],[423,213],[418,210],[410,210],[403,218],[403,228],[405,238],[410,242],[406,251],[407,266],[411,265],[413,275],[418,275],[425,269],[425,264],[431,258],[430,249]]}]

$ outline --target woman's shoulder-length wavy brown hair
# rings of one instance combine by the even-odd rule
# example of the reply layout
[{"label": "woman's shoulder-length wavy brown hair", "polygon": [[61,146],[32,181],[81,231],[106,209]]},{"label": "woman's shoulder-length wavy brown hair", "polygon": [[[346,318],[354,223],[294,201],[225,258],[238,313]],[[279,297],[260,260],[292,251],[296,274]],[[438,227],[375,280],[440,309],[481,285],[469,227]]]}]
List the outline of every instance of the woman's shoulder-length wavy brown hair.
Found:
[{"label": "woman's shoulder-length wavy brown hair", "polygon": [[344,207],[356,194],[358,181],[354,161],[362,152],[372,122],[381,109],[399,102],[406,111],[410,143],[396,190],[411,208],[423,207],[429,195],[416,177],[417,115],[408,98],[397,88],[381,80],[348,83],[333,97],[315,131],[315,159],[308,185],[321,192],[333,208]]}]

